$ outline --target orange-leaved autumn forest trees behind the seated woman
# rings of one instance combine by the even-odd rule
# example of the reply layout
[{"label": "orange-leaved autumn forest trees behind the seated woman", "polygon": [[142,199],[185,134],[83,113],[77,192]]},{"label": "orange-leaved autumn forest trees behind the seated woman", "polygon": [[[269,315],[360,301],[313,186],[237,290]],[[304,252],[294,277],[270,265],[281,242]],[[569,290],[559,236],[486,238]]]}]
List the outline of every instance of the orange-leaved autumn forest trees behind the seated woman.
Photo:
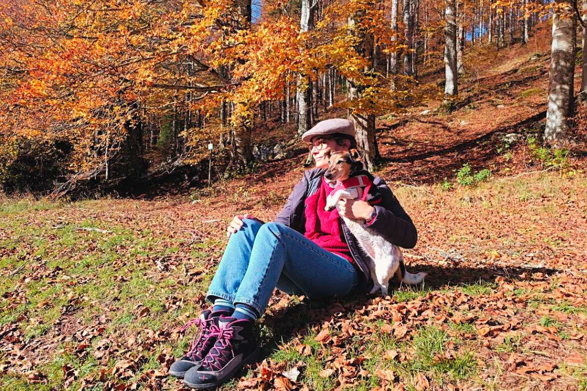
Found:
[{"label": "orange-leaved autumn forest trees behind the seated woman", "polygon": [[[573,1],[4,1],[0,183],[95,193],[176,169],[201,183],[210,142],[215,177],[245,172],[266,160],[255,137],[295,123],[278,140],[291,147],[336,108],[355,123],[372,168],[377,116],[439,99],[453,110],[459,75],[475,62],[465,47],[526,43],[547,21],[542,135],[569,142],[574,64],[585,60],[576,60],[584,5]],[[422,80],[443,64],[443,79]]]}]

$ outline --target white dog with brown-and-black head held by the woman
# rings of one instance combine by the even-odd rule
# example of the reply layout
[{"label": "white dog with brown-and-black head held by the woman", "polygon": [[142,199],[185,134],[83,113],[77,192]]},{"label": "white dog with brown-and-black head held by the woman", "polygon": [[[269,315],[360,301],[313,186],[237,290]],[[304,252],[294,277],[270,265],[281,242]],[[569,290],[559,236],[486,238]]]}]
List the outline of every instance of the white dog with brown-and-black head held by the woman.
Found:
[{"label": "white dog with brown-and-black head held by the woman", "polygon": [[[369,176],[365,175],[367,171],[359,151],[350,149],[350,151],[332,152],[329,162],[324,177],[329,183],[336,183],[336,186],[326,199],[326,210],[338,209],[338,202],[341,199],[376,202],[377,195],[373,192],[376,188],[372,186]],[[389,280],[394,275],[399,278],[400,283],[410,285],[419,284],[424,280],[427,273],[411,274],[406,271],[403,254],[399,247],[388,242],[369,227],[363,226],[362,220],[350,219],[340,213],[340,209],[338,210],[340,217],[359,242],[359,246],[371,260],[369,271],[373,280],[373,289],[370,294],[379,290],[383,296],[386,296]]]}]

